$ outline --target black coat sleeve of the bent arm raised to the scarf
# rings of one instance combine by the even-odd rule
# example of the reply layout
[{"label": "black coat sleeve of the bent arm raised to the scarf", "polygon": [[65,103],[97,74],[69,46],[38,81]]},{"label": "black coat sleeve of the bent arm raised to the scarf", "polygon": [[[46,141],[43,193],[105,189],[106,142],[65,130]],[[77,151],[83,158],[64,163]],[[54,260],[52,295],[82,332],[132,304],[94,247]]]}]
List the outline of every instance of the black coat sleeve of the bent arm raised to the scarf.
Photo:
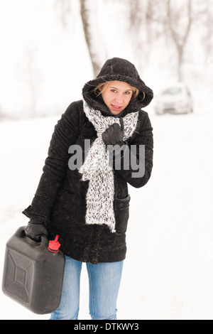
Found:
[{"label": "black coat sleeve of the bent arm raised to the scarf", "polygon": [[114,161],[115,173],[135,188],[146,185],[153,168],[153,127],[147,112],[139,113],[136,136],[120,158],[120,168],[116,168],[116,159]]}]

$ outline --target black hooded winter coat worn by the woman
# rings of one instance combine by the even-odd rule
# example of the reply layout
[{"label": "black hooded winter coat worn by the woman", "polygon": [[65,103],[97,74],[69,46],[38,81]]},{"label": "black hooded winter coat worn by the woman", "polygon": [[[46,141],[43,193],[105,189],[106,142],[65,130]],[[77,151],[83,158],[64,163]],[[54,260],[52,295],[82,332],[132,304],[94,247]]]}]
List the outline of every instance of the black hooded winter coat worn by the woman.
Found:
[{"label": "black hooded winter coat worn by the woman", "polygon": [[[92,264],[125,259],[130,202],[127,184],[136,188],[143,187],[151,176],[153,166],[153,129],[148,114],[141,110],[141,106],[151,101],[153,92],[127,60],[120,58],[107,60],[97,78],[88,82],[83,88],[83,96],[87,103],[99,109],[106,117],[111,116],[111,112],[102,97],[96,97],[92,89],[98,83],[108,80],[125,81],[140,90],[138,98],[131,100],[128,107],[121,112],[121,116],[140,111],[136,130],[127,140],[127,144],[145,145],[146,154],[143,177],[132,177],[132,173],[136,171],[132,171],[131,164],[129,170],[124,170],[122,163],[121,170],[114,170],[116,232],[110,232],[107,225],[85,224],[89,181],[81,181],[82,176],[79,171],[77,169],[73,171],[68,166],[73,154],[69,153],[70,146],[80,145],[84,156],[84,139],[90,139],[92,143],[97,138],[94,126],[84,114],[82,100],[72,102],[55,126],[38,189],[31,205],[23,211],[31,220],[46,224],[50,239],[55,239],[55,235],[59,235],[60,249],[65,255]],[[143,92],[146,98],[142,101]]]}]

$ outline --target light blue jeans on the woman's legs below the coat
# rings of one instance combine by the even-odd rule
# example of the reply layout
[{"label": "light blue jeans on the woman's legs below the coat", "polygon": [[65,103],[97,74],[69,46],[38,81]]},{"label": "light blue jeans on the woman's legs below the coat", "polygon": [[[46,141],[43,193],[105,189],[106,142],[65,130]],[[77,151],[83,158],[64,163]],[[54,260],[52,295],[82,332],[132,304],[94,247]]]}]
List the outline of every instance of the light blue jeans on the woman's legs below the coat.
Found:
[{"label": "light blue jeans on the woman's legs below the coat", "polygon": [[[94,320],[116,319],[123,261],[87,263],[89,277],[89,314]],[[80,307],[80,274],[82,262],[65,257],[65,273],[60,306],[50,320],[77,320]]]}]

